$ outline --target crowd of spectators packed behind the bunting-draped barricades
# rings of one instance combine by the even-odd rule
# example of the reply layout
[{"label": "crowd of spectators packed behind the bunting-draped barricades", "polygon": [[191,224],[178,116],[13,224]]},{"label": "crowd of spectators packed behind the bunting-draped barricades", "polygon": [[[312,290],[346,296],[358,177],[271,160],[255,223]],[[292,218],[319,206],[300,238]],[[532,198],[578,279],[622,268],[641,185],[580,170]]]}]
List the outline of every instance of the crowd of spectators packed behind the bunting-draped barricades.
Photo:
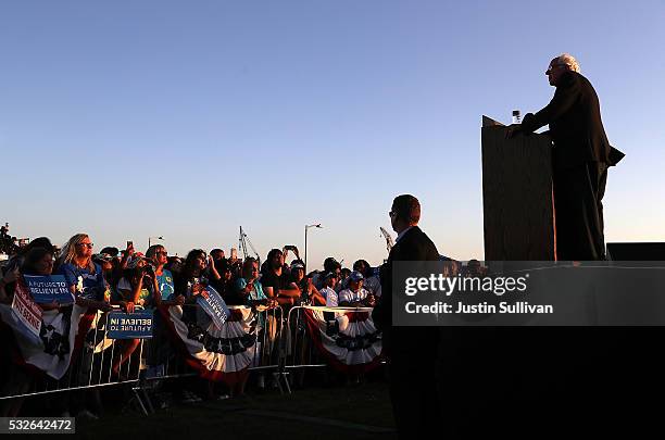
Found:
[{"label": "crowd of spectators packed behind the bunting-draped barricades", "polygon": [[[289,253],[293,257],[287,264]],[[344,268],[334,257],[324,261],[323,271],[306,272],[296,247],[273,249],[263,264],[256,259],[241,260],[237,250],[230,256],[215,248],[206,253],[192,249],[185,259],[170,255],[165,246],[150,246],[146,252],[137,251],[128,241],[124,250],[105,247],[95,252],[95,243],[86,234],[76,234],[62,250],[47,237],[32,240],[27,246],[12,248],[12,254],[0,266],[0,303],[11,304],[24,275],[62,275],[70,292],[79,306],[90,311],[110,312],[183,306],[184,314],[196,314],[197,298],[208,289],[214,289],[227,305],[242,305],[256,311],[294,305],[327,307],[373,307],[381,294],[378,271],[365,260],[356,261],[352,268]],[[72,309],[72,304],[38,304],[42,311]],[[196,319],[196,317],[193,318]],[[1,323],[0,323],[1,327]],[[153,338],[149,365],[159,364],[160,343],[167,344],[165,325],[160,314],[154,314]],[[4,332],[3,338],[8,337]],[[114,378],[123,380],[123,365],[140,344],[139,339],[118,342],[111,364]],[[150,359],[152,357],[152,359]],[[2,360],[5,384],[4,395],[28,391],[33,379],[11,360]],[[238,390],[242,393],[243,386]],[[183,401],[198,401],[199,395],[181,390]],[[209,384],[209,398],[214,398],[214,385]],[[7,402],[5,402],[7,403]],[[20,414],[21,403],[4,404],[2,415]],[[80,411],[90,414],[86,405]]]}]

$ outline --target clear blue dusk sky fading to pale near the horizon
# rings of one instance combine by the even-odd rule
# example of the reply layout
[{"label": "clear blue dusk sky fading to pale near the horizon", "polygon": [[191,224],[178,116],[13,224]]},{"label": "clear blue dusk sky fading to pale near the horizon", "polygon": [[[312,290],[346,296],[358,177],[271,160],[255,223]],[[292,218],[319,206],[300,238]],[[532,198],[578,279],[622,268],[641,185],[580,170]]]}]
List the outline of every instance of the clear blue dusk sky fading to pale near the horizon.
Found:
[{"label": "clear blue dusk sky fading to pale near the horizon", "polygon": [[[607,241],[665,241],[665,2],[0,1],[0,222],[99,251],[387,256],[394,196],[482,256],[480,116],[544,106],[576,56],[611,142]],[[394,235],[393,235],[394,236]]]}]

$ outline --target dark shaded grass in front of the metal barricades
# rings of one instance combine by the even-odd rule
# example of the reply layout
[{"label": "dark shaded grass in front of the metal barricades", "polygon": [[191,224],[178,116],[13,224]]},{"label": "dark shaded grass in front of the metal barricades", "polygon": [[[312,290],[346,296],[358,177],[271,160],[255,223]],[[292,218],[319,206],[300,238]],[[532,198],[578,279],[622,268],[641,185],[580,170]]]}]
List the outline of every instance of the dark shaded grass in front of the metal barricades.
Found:
[{"label": "dark shaded grass in front of the metal barricades", "polygon": [[77,437],[89,439],[397,438],[388,386],[382,381],[181,404],[149,416],[117,412],[79,422],[76,430]]}]

